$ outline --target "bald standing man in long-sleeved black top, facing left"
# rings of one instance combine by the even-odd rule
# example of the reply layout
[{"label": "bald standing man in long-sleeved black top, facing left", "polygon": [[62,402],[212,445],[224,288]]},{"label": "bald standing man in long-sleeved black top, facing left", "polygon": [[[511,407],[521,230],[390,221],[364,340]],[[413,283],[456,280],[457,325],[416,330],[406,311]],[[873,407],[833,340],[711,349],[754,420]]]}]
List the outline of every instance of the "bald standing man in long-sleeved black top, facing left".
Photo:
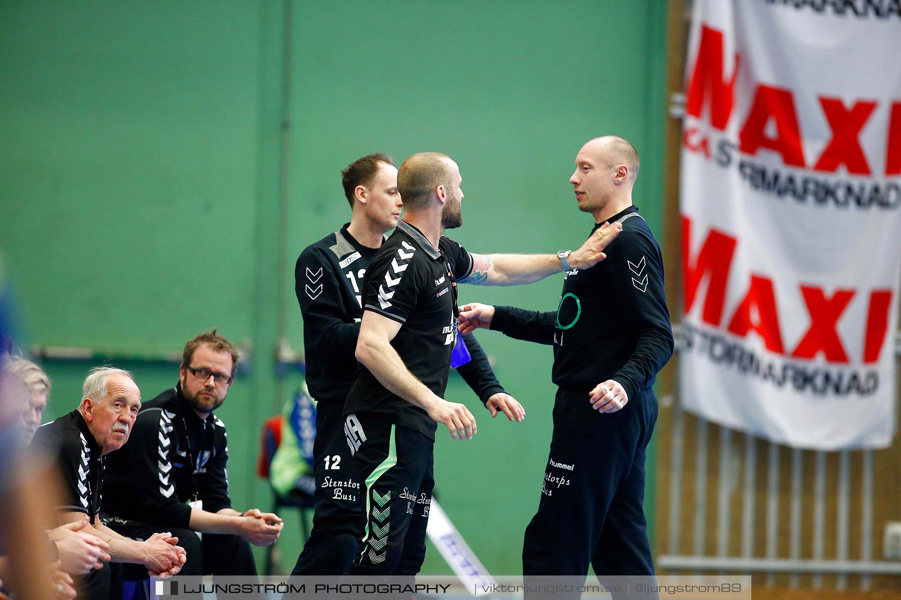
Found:
[{"label": "bald standing man in long-sleeved black top, facing left", "polygon": [[541,502],[525,531],[527,577],[584,581],[589,563],[599,578],[654,573],[642,512],[644,457],[657,420],[652,386],[673,336],[660,246],[632,203],[638,167],[638,153],[622,138],[592,139],[579,150],[569,178],[579,210],[595,218],[592,233],[606,221],[623,231],[604,263],[582,269],[570,262],[556,311],[476,303],[460,311],[461,331],[490,327],[554,346],[559,390]]}]

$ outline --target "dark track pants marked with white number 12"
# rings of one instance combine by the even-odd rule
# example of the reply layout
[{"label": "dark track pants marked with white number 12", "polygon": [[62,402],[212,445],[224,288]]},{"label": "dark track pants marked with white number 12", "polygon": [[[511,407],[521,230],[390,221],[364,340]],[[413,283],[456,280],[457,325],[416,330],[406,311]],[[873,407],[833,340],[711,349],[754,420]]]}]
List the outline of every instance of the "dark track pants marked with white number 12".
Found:
[{"label": "dark track pants marked with white number 12", "polygon": [[363,503],[357,462],[344,437],[341,402],[316,407],[313,531],[291,575],[342,575],[359,555]]}]

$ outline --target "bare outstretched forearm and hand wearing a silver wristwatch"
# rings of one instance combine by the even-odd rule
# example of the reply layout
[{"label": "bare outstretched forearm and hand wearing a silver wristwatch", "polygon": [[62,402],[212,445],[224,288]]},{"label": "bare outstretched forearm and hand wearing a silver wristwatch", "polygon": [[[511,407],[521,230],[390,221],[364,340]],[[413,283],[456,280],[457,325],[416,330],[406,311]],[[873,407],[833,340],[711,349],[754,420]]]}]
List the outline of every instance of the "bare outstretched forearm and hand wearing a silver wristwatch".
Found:
[{"label": "bare outstretched forearm and hand wearing a silver wristwatch", "polygon": [[[620,223],[605,223],[596,229],[578,250],[569,254],[569,266],[588,269],[606,258],[609,246],[619,232]],[[520,285],[540,281],[554,273],[560,273],[560,258],[553,255],[478,255],[472,254],[472,270],[460,283],[474,285]]]}]

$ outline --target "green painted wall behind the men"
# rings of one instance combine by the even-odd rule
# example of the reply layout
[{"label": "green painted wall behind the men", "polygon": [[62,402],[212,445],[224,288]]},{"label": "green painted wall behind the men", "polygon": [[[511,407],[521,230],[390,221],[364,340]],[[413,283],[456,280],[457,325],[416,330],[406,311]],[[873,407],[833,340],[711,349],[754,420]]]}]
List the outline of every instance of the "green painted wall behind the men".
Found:
[{"label": "green painted wall behind the men", "polygon": [[[642,155],[635,201],[660,231],[661,3],[283,9],[0,3],[0,246],[29,340],[120,354],[178,349],[214,326],[247,340],[252,372],[222,409],[238,507],[269,502],[252,467],[259,425],[300,381],[273,374],[280,337],[302,348],[293,264],[349,219],[340,171],[354,158],[445,152],[466,193],[453,237],[477,252],[554,252],[592,225],[567,183],[578,148],[615,133]],[[552,309],[559,292],[551,278],[464,286],[460,300]],[[551,348],[479,339],[528,416],[480,409],[473,442],[439,435],[436,495],[489,570],[517,573],[551,434]],[[57,416],[91,364],[46,366]],[[168,364],[121,366],[145,398],[176,378]],[[448,397],[478,403],[456,376]],[[296,526],[291,515],[279,543],[287,568]],[[449,571],[432,548],[423,572]]]}]

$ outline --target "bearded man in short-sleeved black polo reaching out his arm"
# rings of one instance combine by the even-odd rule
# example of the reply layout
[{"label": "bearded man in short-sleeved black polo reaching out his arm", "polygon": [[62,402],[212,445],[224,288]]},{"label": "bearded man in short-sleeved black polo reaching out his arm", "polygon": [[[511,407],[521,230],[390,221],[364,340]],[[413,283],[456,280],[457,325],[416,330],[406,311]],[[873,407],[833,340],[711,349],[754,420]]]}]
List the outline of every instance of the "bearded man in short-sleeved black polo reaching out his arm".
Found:
[{"label": "bearded man in short-sleeved black polo reaching out his arm", "polygon": [[[364,546],[351,576],[415,575],[425,556],[437,424],[472,439],[469,409],[441,397],[457,339],[457,282],[514,285],[560,272],[556,255],[470,255],[443,237],[463,222],[457,164],[438,153],[407,158],[397,174],[404,219],[369,265],[357,371],[344,433],[365,494]],[[602,260],[618,227],[591,236],[569,262]]]}]

